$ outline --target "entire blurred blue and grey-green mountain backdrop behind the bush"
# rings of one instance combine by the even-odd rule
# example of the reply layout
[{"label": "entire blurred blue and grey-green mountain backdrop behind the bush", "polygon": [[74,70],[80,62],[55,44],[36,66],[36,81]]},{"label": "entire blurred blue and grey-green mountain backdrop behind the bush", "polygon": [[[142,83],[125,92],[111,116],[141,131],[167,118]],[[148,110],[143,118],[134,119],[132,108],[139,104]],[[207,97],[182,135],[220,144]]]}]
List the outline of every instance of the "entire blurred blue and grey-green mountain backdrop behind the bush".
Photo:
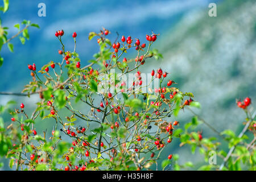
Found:
[{"label": "entire blurred blue and grey-green mountain backdrop behind the bush", "polygon": [[[38,16],[38,4],[46,3],[46,17]],[[217,3],[217,17],[209,17],[209,3]],[[14,39],[14,53],[3,46],[4,58],[0,67],[0,91],[18,92],[31,80],[27,64],[38,68],[50,60],[59,61],[61,48],[55,31],[63,29],[67,49],[73,49],[74,31],[77,32],[77,52],[81,65],[98,51],[96,39],[88,40],[91,31],[109,29],[109,38],[131,35],[146,42],[145,35],[160,34],[154,47],[163,59],[148,61],[144,72],[162,67],[178,83],[180,90],[192,92],[202,109],[195,110],[217,130],[241,130],[242,111],[236,98],[250,96],[256,100],[256,3],[250,0],[172,0],[172,1],[10,1],[10,8],[1,14],[2,25],[10,27],[10,36],[17,30],[14,24],[23,19],[38,23],[40,29],[29,28],[30,40],[22,45]],[[20,97],[0,96],[0,104]],[[37,98],[26,99],[35,106]],[[24,101],[23,101],[24,102]],[[254,102],[253,102],[254,105]],[[188,110],[181,111],[180,126],[191,120]],[[9,118],[9,117],[8,117]],[[202,127],[203,137],[215,136]],[[51,129],[49,130],[51,131]],[[217,137],[217,136],[215,136]],[[171,152],[186,156],[180,163],[204,163],[198,152],[191,155],[189,148],[179,147],[174,139],[163,155]]]}]

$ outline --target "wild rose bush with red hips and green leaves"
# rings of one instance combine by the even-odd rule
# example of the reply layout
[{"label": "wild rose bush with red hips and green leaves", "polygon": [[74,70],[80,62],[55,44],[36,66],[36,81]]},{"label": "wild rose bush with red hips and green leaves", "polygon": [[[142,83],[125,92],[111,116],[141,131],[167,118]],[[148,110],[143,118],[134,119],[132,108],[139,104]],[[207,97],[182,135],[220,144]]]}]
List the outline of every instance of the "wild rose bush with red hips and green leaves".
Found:
[{"label": "wild rose bush with red hips and green leaves", "polygon": [[[59,63],[50,61],[39,71],[35,63],[28,64],[32,81],[24,86],[22,96],[40,97],[35,110],[28,115],[26,103],[15,106],[15,110],[9,109],[13,102],[1,107],[1,113],[8,110],[13,121],[9,126],[0,122],[0,155],[10,159],[10,168],[141,170],[151,169],[153,164],[159,168],[160,159],[162,169],[192,167],[190,162],[180,165],[178,155],[161,155],[176,137],[180,146],[191,145],[192,152],[199,148],[206,160],[210,151],[216,151],[224,158],[224,166],[228,162],[228,168],[210,164],[200,169],[241,169],[241,161],[247,164],[246,169],[255,169],[256,126],[255,114],[252,116],[248,109],[250,98],[237,105],[245,110],[245,130],[251,131],[254,139],[245,137],[245,132],[238,137],[230,130],[217,132],[228,141],[230,149],[234,147],[231,156],[218,148],[216,138],[203,138],[196,131],[200,123],[213,129],[197,115],[184,129],[174,120],[180,109],[200,107],[192,100],[192,93],[176,88],[175,81],[161,68],[149,74],[141,72],[150,59],[162,57],[156,49],[150,49],[158,34],[146,35],[144,43],[131,36],[117,36],[112,43],[108,34],[105,28],[90,32],[89,40],[97,38],[100,51],[94,54],[94,60],[86,61],[88,65],[76,52],[76,32],[71,51],[65,49],[63,30],[55,33],[61,46]],[[127,58],[127,52],[134,53],[134,57]],[[36,126],[44,119],[55,121],[55,127],[38,133]],[[48,133],[52,137],[46,138]]]}]

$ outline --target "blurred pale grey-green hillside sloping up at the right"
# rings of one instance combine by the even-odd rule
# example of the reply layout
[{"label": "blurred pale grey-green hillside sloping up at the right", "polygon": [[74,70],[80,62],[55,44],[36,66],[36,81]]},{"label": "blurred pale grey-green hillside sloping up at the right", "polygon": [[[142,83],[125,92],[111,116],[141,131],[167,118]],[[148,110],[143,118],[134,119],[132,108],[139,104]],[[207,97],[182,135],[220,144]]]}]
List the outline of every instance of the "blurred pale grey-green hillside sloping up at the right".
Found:
[{"label": "blurred pale grey-green hillside sloping up at the right", "polygon": [[[236,106],[236,98],[250,96],[254,106],[256,102],[256,2],[224,1],[217,5],[217,17],[208,16],[208,10],[187,14],[175,28],[159,36],[164,60],[152,63],[150,69],[160,64],[180,90],[192,92],[201,104],[201,109],[193,110],[216,130],[240,133],[245,114]],[[176,119],[184,127],[191,116],[184,110]],[[203,137],[217,137],[207,127],[200,130]],[[181,163],[204,161],[199,152],[193,156],[189,150],[177,142],[170,148],[185,156]]]}]

